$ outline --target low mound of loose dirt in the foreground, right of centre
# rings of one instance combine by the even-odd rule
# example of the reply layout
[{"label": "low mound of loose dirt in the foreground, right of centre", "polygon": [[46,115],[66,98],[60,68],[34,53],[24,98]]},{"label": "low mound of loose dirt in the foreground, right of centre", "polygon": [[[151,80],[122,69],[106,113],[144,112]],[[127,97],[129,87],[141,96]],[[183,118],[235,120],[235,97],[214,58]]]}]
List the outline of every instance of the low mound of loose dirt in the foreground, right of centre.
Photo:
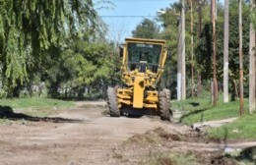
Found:
[{"label": "low mound of loose dirt in the foreground, right of centre", "polygon": [[[200,143],[204,141],[204,143]],[[123,141],[113,151],[113,158],[120,164],[190,165],[222,164],[233,165],[235,161],[224,156],[224,152],[209,149],[207,140],[192,131],[187,134],[166,132],[157,128],[137,134]]]}]

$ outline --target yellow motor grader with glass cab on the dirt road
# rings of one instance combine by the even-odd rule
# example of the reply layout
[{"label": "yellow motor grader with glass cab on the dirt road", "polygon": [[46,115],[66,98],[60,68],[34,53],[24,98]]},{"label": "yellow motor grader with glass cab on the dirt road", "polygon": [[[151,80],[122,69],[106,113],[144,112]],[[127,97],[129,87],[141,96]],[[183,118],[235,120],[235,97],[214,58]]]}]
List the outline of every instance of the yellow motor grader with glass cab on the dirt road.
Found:
[{"label": "yellow motor grader with glass cab on the dirt road", "polygon": [[120,49],[123,84],[107,88],[111,117],[150,114],[171,121],[169,90],[157,88],[167,57],[165,44],[165,40],[125,39]]}]

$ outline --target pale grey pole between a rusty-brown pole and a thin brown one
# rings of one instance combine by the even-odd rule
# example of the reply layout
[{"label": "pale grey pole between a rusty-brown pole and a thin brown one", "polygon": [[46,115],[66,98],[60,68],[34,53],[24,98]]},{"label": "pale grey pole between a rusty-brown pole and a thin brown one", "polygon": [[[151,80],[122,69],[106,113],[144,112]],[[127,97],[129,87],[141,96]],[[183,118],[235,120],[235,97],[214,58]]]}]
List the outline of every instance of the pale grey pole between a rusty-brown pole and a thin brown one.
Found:
[{"label": "pale grey pole between a rusty-brown pole and a thin brown one", "polygon": [[229,3],[224,0],[224,103],[228,102],[228,40],[229,40]]}]

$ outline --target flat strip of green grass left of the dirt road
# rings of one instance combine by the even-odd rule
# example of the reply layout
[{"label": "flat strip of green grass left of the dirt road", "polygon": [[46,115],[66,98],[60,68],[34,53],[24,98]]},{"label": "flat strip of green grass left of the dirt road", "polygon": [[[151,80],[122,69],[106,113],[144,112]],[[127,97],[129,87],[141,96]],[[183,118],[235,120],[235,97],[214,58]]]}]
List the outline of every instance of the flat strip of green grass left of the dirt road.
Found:
[{"label": "flat strip of green grass left of the dirt road", "polygon": [[75,103],[50,98],[15,98],[0,99],[0,106],[10,106],[11,108],[60,108],[74,107]]}]

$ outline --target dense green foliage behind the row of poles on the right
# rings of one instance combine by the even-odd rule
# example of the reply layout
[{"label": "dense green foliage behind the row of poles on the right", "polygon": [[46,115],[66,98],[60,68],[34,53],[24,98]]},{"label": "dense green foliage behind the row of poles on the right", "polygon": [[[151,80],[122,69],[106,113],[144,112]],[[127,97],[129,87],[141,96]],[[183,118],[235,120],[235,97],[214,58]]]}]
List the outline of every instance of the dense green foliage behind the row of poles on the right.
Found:
[{"label": "dense green foliage behind the row of poles on the right", "polygon": [[[213,53],[213,38],[212,38],[212,22],[211,22],[211,4],[209,1],[201,6],[202,11],[202,24],[201,30],[199,31],[198,22],[198,1],[193,1],[194,7],[194,21],[193,28],[194,31],[190,31],[191,18],[190,18],[190,4],[186,2],[185,9],[187,13],[185,15],[185,40],[186,40],[186,79],[187,83],[192,82],[191,76],[191,64],[194,64],[194,71],[201,74],[202,83],[207,84],[209,87],[211,83],[208,83],[213,78],[212,69],[212,53]],[[249,10],[249,4],[247,2],[243,3],[243,61],[244,61],[244,91],[245,96],[248,94],[248,59],[246,55],[249,51],[249,25],[250,25],[250,15],[251,18],[254,17],[254,13]],[[176,86],[176,61],[177,61],[177,36],[178,36],[178,21],[179,21],[179,3],[170,4],[170,6],[164,9],[165,13],[158,17],[158,21],[162,22],[163,30],[160,32],[160,38],[166,39],[168,44],[168,49],[171,52],[171,62],[167,62],[166,70],[167,75],[163,76],[163,85],[170,84],[167,86],[172,92],[172,97],[175,97],[175,86]],[[252,16],[253,15],[253,16]],[[251,19],[254,21],[254,19]],[[194,59],[191,59],[191,34],[194,38]],[[238,56],[238,3],[235,0],[229,1],[229,91],[235,91],[233,82],[238,79],[239,72],[239,56]],[[217,19],[217,68],[218,68],[218,81],[220,84],[223,82],[223,70],[224,70],[224,6],[218,5],[218,19]],[[196,74],[194,73],[194,82],[197,83]],[[174,86],[174,87],[173,87]],[[187,84],[189,86],[189,84]],[[187,92],[189,96],[189,92]]]}]

